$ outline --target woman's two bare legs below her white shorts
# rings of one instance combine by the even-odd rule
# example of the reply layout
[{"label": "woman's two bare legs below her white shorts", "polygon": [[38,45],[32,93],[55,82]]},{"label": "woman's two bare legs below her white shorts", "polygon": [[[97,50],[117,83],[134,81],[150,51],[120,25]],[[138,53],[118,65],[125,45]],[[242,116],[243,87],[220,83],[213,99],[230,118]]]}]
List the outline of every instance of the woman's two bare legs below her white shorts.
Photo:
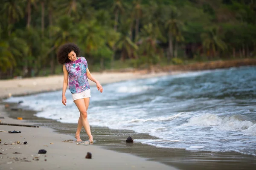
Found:
[{"label": "woman's two bare legs below her white shorts", "polygon": [[75,100],[75,104],[80,111],[80,117],[79,117],[80,125],[78,123],[77,131],[76,131],[76,138],[77,138],[77,141],[79,141],[81,124],[82,124],[82,126],[84,127],[84,129],[89,137],[89,141],[93,142],[93,136],[90,132],[90,125],[89,125],[89,122],[87,119],[87,108],[88,107],[86,107],[85,103],[87,103],[89,105],[89,98]]}]

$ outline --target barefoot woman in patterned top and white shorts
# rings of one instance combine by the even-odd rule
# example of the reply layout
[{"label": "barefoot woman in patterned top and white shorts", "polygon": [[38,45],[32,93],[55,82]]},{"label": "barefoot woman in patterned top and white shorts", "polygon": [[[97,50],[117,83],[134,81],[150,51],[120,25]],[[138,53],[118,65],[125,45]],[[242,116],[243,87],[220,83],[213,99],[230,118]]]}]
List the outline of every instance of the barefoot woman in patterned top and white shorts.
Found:
[{"label": "barefoot woman in patterned top and white shorts", "polygon": [[90,143],[93,143],[93,136],[87,119],[87,109],[90,101],[90,86],[88,79],[96,83],[96,86],[101,93],[103,88],[99,81],[93,78],[92,74],[90,74],[86,59],[84,57],[78,57],[79,53],[80,50],[78,46],[73,43],[62,45],[58,50],[58,62],[63,64],[64,73],[62,104],[66,106],[67,103],[65,93],[68,84],[73,102],[80,112],[76,130],[76,141],[81,141],[80,131],[83,126],[89,137]]}]

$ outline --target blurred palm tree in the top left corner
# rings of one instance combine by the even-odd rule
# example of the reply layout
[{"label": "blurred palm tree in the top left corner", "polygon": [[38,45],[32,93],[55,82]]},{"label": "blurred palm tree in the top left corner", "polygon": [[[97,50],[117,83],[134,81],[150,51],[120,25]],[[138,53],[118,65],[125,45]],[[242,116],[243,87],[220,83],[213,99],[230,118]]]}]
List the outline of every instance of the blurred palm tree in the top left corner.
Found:
[{"label": "blurred palm tree in the top left corner", "polygon": [[11,25],[24,16],[20,1],[4,0],[1,13],[5,13],[8,18],[8,34],[11,34]]}]

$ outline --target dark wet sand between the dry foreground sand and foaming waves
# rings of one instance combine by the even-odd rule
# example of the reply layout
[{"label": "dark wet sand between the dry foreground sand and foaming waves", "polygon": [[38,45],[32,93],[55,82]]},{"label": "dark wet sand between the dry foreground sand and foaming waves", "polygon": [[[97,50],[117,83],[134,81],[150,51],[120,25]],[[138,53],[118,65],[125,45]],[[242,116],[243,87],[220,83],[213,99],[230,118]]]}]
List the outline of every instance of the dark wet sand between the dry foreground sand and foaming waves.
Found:
[{"label": "dark wet sand between the dry foreground sand and foaming waves", "polygon": [[[74,138],[76,132],[76,124],[61,123],[52,119],[44,119],[33,116],[34,111],[24,108],[18,109],[18,105],[14,105],[14,110],[6,109],[11,118],[16,119],[22,116],[26,122],[39,125],[40,127],[50,127],[59,134],[66,134]],[[91,127],[94,139],[94,146],[99,146],[107,150],[114,150],[119,153],[129,153],[140,156],[143,159],[157,161],[170,168],[175,167],[180,170],[254,170],[256,167],[256,157],[243,155],[236,152],[204,152],[189,151],[185,149],[160,148],[134,142],[127,144],[125,140],[128,136],[133,139],[157,139],[145,133],[135,133],[132,130],[113,130],[108,127]],[[88,140],[84,130],[81,131],[81,139]]]}]

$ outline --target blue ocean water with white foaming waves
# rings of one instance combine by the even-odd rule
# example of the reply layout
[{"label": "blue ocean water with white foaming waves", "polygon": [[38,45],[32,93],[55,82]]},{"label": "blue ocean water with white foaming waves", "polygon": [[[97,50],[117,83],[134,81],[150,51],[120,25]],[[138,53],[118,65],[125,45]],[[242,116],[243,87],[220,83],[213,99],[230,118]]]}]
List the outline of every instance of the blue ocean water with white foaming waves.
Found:
[{"label": "blue ocean water with white foaming waves", "polygon": [[[99,80],[100,81],[100,80]],[[159,139],[134,139],[156,147],[256,156],[256,67],[198,71],[91,87],[92,126],[128,129]],[[38,111],[35,116],[77,123],[79,112],[67,89],[12,97],[6,102]]]}]

